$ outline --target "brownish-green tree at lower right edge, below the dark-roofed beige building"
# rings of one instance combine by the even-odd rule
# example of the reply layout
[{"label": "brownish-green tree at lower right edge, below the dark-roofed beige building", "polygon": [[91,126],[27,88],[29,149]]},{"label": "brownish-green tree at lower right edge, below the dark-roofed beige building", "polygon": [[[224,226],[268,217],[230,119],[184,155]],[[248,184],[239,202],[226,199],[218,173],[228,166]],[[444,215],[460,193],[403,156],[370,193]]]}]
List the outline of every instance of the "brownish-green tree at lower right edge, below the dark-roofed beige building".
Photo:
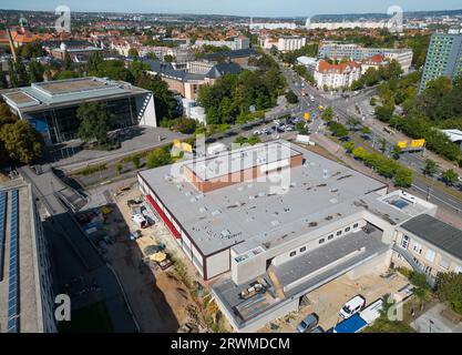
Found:
[{"label": "brownish-green tree at lower right edge, below the dark-roofed beige building", "polygon": [[462,315],[462,274],[438,273],[437,295],[441,302],[446,302],[452,311]]}]

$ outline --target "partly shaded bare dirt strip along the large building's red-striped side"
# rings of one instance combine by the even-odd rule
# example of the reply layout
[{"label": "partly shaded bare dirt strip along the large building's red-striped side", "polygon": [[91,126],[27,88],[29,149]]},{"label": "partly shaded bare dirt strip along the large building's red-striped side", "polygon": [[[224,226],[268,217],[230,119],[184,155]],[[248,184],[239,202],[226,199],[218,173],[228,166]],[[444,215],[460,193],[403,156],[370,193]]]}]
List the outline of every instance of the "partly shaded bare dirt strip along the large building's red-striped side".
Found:
[{"label": "partly shaded bare dirt strip along the large building's red-striped side", "polygon": [[[130,231],[138,229],[131,220],[132,214],[126,202],[137,197],[141,197],[141,192],[136,186],[115,197],[123,223]],[[162,271],[143,265],[142,251],[160,242],[166,245],[165,252],[170,258],[176,258],[181,253],[171,233],[162,222],[157,222],[142,230],[142,237],[137,241],[130,241],[127,236],[121,237],[110,245],[107,254],[125,288],[142,332],[177,332],[182,325],[194,320],[191,310],[199,308],[174,266]],[[185,267],[187,277],[198,281],[195,268],[186,263]],[[198,320],[203,324],[201,315]]]}]

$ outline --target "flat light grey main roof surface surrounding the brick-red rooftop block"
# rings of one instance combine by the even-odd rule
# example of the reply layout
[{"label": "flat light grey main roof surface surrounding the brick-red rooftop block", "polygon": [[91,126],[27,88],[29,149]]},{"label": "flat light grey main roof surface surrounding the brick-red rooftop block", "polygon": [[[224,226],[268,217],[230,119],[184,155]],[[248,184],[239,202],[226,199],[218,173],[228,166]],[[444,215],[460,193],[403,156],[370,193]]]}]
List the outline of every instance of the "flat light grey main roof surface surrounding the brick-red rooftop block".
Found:
[{"label": "flat light grey main roof surface surrounding the brick-red rooftop block", "polygon": [[204,255],[230,246],[239,253],[260,245],[269,248],[365,210],[393,224],[410,217],[379,201],[376,191],[386,189],[383,183],[297,145],[290,148],[302,154],[305,163],[290,169],[287,180],[269,174],[264,181],[202,193],[183,176],[182,165],[142,171],[140,176]]}]

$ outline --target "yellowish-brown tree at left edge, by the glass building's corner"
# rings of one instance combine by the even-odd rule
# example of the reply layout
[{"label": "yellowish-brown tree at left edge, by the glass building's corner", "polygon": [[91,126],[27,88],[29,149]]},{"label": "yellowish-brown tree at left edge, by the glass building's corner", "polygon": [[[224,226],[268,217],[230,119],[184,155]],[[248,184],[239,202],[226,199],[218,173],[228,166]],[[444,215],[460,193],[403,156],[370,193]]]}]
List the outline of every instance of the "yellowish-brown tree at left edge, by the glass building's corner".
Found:
[{"label": "yellowish-brown tree at left edge, by the glass building's corner", "polygon": [[13,161],[30,164],[42,154],[42,136],[25,120],[3,124],[0,141]]}]

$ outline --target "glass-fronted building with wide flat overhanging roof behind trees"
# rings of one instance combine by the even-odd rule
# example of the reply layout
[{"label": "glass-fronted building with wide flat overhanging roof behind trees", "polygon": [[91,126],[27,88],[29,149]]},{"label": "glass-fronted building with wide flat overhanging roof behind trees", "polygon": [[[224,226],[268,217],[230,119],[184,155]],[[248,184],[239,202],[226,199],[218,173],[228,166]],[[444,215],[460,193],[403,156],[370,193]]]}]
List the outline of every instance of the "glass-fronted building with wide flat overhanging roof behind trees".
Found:
[{"label": "glass-fronted building with wide flat overhanging roof behind trees", "polygon": [[112,128],[157,126],[154,95],[127,82],[106,78],[79,78],[33,83],[1,90],[0,95],[21,120],[28,120],[47,144],[76,138],[76,111],[84,102],[106,104]]}]

